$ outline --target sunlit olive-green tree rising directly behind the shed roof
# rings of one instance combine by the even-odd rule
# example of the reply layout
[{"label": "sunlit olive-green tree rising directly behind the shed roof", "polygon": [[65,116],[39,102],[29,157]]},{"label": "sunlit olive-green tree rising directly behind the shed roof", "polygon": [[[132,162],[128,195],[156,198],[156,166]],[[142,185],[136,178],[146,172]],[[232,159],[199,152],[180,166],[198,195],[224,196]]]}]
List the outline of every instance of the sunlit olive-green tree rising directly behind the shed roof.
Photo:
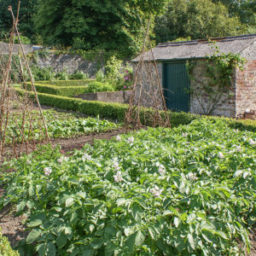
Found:
[{"label": "sunlit olive-green tree rising directly behind the shed roof", "polygon": [[237,16],[230,17],[222,3],[211,0],[172,0],[166,14],[157,17],[154,28],[157,42],[176,38],[235,36],[246,32]]}]

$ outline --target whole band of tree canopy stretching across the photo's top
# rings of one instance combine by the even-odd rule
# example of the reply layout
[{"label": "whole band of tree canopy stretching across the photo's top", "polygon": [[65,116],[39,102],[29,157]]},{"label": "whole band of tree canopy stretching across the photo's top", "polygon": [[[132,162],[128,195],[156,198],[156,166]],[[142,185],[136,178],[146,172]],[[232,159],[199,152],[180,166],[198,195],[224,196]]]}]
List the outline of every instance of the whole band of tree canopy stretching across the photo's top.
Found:
[{"label": "whole band of tree canopy stretching across the photo's top", "polygon": [[[12,26],[8,6],[16,12],[17,3],[0,0],[0,39]],[[255,0],[22,0],[19,27],[35,44],[131,56],[149,17],[156,42],[256,32]]]}]

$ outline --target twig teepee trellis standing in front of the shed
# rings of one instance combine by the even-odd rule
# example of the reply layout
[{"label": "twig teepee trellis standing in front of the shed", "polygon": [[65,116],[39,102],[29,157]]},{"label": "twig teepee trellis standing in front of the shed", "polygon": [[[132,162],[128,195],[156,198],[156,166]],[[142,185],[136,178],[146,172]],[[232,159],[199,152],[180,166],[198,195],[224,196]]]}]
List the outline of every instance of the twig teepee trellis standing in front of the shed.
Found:
[{"label": "twig teepee trellis standing in front of the shed", "polygon": [[[160,83],[160,75],[149,37],[150,20],[145,29],[143,26],[143,49],[137,61],[134,73],[133,90],[130,105],[125,113],[127,127],[138,129],[144,125],[170,127],[171,122],[166,108],[166,100]],[[149,50],[146,52],[148,44]],[[154,60],[154,61],[151,61]],[[146,85],[145,85],[146,84]],[[150,107],[147,109],[145,107]]]}]

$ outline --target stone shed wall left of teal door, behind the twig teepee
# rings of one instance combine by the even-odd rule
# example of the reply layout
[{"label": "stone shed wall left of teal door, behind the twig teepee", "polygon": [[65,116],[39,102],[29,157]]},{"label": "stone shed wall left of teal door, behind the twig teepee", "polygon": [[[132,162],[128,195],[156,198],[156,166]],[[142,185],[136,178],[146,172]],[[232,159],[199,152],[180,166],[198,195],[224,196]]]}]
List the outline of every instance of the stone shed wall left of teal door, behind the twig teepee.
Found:
[{"label": "stone shed wall left of teal door, behind the twig teepee", "polygon": [[[157,72],[162,86],[162,62],[157,62]],[[133,70],[136,72],[137,64]],[[152,62],[144,62],[143,67],[137,72],[137,85],[135,90],[134,103],[140,101],[140,106],[147,108],[163,108],[161,91],[157,85],[157,73]],[[162,88],[162,87],[161,87]]]}]

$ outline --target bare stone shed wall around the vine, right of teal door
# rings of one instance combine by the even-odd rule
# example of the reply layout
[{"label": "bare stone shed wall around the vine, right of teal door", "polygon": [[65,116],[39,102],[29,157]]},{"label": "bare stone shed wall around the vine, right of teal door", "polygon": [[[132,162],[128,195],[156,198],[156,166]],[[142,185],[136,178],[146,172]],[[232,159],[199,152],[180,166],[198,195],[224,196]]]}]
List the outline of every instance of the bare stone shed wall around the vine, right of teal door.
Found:
[{"label": "bare stone shed wall around the vine, right of teal door", "polygon": [[[195,79],[190,79],[190,88],[197,91],[198,93],[192,93],[190,96],[190,113],[206,114],[207,109],[211,108],[210,103],[212,101],[209,101],[209,96],[207,94],[202,94],[201,90],[202,84],[207,84],[205,73],[205,61],[196,61],[192,74],[192,77]],[[224,95],[220,98],[218,104],[212,111],[212,115],[225,116],[230,118],[236,117],[235,84],[233,84],[232,88],[227,90],[226,93],[224,93]]]}]

